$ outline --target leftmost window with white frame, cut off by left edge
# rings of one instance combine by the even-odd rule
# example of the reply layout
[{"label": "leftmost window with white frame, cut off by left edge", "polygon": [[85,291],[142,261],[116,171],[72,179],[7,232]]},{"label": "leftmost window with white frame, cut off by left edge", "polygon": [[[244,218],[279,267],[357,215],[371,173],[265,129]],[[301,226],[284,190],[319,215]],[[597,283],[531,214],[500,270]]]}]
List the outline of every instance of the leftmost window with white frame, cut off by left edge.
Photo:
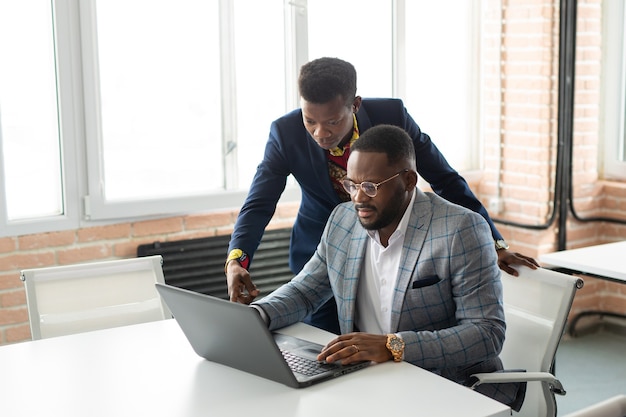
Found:
[{"label": "leftmost window with white frame, cut off by left edge", "polygon": [[[79,225],[76,26],[65,2],[0,0],[0,236]],[[78,114],[61,109],[78,110]]]}]

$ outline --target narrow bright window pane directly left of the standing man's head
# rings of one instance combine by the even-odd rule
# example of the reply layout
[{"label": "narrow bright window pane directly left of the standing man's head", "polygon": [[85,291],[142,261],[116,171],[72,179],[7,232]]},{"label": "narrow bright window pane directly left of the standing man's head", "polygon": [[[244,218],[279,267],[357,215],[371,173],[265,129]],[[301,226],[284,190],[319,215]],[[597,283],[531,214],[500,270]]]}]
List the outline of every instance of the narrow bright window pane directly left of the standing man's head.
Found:
[{"label": "narrow bright window pane directly left of the standing man's head", "polygon": [[265,150],[270,122],[298,105],[289,100],[295,86],[286,85],[285,73],[294,69],[285,66],[283,15],[280,1],[234,2],[236,189],[247,189],[252,182]]}]

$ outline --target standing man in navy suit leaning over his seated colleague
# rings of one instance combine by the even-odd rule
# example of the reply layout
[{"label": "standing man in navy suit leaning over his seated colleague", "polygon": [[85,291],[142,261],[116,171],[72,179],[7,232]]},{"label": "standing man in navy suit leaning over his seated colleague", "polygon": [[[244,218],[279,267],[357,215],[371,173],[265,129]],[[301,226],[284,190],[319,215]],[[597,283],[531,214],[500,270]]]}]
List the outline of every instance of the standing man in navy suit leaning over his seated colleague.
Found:
[{"label": "standing man in navy suit leaning over his seated colleague", "polygon": [[[350,146],[372,126],[401,127],[411,137],[417,170],[435,193],[448,201],[479,213],[491,228],[500,267],[511,274],[510,264],[534,268],[534,259],[507,250],[506,243],[487,211],[454,170],[430,137],[398,99],[362,99],[356,95],[354,67],[337,58],[320,58],[305,64],[298,80],[302,97],[297,109],[274,121],[249,194],[241,208],[229,244],[226,261],[231,301],[250,303],[257,295],[247,269],[265,227],[293,175],[300,185],[302,200],[293,225],[289,265],[298,273],[314,253],[331,211],[349,196],[341,186]],[[310,324],[339,332],[336,307],[329,305],[307,320]]]}]

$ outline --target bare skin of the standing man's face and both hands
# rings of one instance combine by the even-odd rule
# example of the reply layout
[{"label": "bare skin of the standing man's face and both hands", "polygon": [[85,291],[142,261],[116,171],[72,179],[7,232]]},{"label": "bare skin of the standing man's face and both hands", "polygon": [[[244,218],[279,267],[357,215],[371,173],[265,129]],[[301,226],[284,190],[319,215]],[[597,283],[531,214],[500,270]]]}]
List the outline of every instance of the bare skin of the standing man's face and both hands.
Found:
[{"label": "bare skin of the standing man's face and both hands", "polygon": [[[310,103],[302,99],[302,121],[320,147],[332,149],[343,146],[350,140],[353,128],[352,114],[358,112],[360,107],[359,96],[349,103],[341,96],[324,104]],[[511,267],[512,265],[525,265],[531,269],[539,267],[535,259],[518,252],[500,249],[497,254],[498,267],[513,276],[517,276],[518,273]],[[237,261],[230,261],[226,266],[226,281],[230,301],[250,304],[259,295],[250,274]]]}]

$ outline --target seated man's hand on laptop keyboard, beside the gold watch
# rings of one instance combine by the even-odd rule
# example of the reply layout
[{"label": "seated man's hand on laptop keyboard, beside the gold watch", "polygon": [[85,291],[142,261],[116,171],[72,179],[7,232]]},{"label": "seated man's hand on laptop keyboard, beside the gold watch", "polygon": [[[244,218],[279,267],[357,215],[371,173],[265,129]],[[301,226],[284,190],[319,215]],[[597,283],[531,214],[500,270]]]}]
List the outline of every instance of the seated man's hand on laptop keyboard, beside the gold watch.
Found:
[{"label": "seated man's hand on laptop keyboard, beside the gold watch", "polygon": [[387,336],[370,333],[348,333],[331,340],[317,356],[318,361],[340,362],[348,365],[356,362],[387,362],[393,359],[387,349]]}]

